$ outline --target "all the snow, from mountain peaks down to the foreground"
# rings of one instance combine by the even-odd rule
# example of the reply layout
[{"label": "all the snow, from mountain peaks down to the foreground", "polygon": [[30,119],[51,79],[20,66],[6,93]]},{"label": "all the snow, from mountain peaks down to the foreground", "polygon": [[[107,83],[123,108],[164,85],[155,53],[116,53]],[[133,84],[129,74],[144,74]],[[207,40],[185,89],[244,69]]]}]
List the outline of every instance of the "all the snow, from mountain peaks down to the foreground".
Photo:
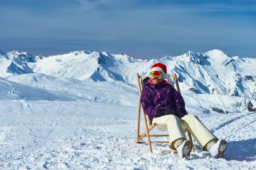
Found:
[{"label": "all the snow, from mountain peaks down to the foreground", "polygon": [[[231,57],[219,50],[149,61],[91,51],[32,57],[33,62],[29,56],[0,51],[0,170],[256,169],[256,112],[250,112],[256,110],[256,72],[249,67],[254,59],[236,56],[228,67]],[[190,160],[162,153],[168,144],[156,141],[167,137],[151,138],[153,153],[148,143],[134,144],[135,74],[147,74],[156,62],[177,73],[189,114],[227,141],[224,158],[212,158],[195,140]],[[227,68],[221,70],[223,62]],[[228,89],[238,95],[227,95]],[[141,134],[142,116],[140,125]]]}]

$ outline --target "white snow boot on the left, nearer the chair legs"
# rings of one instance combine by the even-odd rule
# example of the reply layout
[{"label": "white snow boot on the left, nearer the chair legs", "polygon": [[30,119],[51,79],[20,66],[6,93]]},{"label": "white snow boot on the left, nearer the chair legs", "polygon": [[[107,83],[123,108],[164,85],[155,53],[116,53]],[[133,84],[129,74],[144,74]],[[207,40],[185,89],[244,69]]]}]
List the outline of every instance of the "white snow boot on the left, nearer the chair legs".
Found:
[{"label": "white snow boot on the left, nearer the chair legs", "polygon": [[179,154],[179,157],[189,159],[190,158],[190,152],[192,150],[192,142],[189,140],[183,141],[182,144],[177,146],[177,151]]}]

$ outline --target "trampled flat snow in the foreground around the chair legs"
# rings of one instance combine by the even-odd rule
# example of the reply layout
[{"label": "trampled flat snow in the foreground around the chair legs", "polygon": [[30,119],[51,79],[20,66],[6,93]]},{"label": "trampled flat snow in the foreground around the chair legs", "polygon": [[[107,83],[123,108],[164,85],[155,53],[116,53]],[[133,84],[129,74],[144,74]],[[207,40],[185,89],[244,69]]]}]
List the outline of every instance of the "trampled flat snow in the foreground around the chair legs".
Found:
[{"label": "trampled flat snow in the foreground around the chair legs", "polygon": [[[255,113],[199,117],[218,138],[227,141],[224,158],[213,159],[194,141],[192,159],[180,159],[177,154],[162,153],[168,145],[157,144],[156,138],[151,140],[154,153],[149,153],[148,144],[134,144],[137,120],[19,109],[0,112],[0,170],[256,169]],[[143,126],[141,121],[140,134]]]}]

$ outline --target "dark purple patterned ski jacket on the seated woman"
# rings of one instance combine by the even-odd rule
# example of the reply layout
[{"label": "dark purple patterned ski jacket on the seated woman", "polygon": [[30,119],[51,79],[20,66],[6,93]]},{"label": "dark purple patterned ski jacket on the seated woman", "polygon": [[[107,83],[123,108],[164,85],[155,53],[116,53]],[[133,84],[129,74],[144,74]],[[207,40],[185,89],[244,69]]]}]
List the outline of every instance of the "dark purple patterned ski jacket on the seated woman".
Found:
[{"label": "dark purple patterned ski jacket on the seated woman", "polygon": [[146,115],[153,120],[157,115],[157,109],[175,110],[185,109],[185,102],[179,92],[166,81],[159,84],[150,84],[149,78],[143,80],[144,88],[140,101]]}]

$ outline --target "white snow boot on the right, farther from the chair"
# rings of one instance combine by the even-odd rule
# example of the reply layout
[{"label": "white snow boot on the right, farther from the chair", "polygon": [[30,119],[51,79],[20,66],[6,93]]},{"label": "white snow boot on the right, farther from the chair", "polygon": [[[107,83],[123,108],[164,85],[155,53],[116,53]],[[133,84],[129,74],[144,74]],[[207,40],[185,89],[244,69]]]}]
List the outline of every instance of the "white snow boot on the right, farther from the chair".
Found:
[{"label": "white snow boot on the right, farther from the chair", "polygon": [[222,158],[226,148],[227,142],[221,139],[218,140],[215,144],[212,144],[212,146],[209,148],[209,152],[213,158]]}]

